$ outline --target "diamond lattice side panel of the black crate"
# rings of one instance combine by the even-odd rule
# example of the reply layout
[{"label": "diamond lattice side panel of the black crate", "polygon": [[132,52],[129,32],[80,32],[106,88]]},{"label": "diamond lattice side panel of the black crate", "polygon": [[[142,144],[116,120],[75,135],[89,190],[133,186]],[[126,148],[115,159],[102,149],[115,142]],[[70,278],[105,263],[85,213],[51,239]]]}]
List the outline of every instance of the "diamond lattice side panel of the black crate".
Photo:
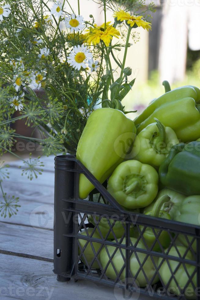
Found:
[{"label": "diamond lattice side panel of the black crate", "polygon": [[[184,293],[189,290],[190,293],[192,290],[195,291],[197,287],[195,237],[184,236],[187,245],[183,247],[179,246],[180,239],[183,239],[179,233],[165,231],[169,239],[169,245],[165,249],[160,239],[163,232],[161,228],[122,222],[121,228],[124,232],[119,238],[115,229],[119,221],[106,216],[81,213],[79,219],[80,224],[75,233],[79,234],[77,239],[79,254],[76,262],[78,264],[82,261],[78,267],[79,272],[84,273],[85,277],[95,277],[104,283],[113,282],[113,285],[118,282],[125,285],[126,279],[128,281],[132,279],[135,290],[139,290],[140,287],[147,290],[150,286],[161,282],[165,290],[170,289],[177,294],[178,299],[186,299]],[[107,234],[102,231],[102,219],[106,223],[106,229],[109,228]],[[146,231],[154,237],[151,245],[144,238]],[[154,251],[155,248],[157,251]],[[89,257],[88,249],[90,249]],[[173,289],[175,286],[176,291]]]}]

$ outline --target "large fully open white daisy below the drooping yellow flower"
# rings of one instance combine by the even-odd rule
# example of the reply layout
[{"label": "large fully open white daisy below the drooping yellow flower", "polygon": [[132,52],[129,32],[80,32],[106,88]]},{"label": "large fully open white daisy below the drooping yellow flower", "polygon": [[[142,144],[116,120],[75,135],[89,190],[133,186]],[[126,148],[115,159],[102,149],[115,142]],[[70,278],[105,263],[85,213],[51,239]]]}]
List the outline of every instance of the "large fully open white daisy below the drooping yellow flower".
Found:
[{"label": "large fully open white daisy below the drooping yellow flower", "polygon": [[80,68],[86,68],[86,63],[88,60],[92,60],[92,54],[85,46],[78,45],[77,47],[74,46],[73,50],[70,51],[68,56],[69,65],[75,68],[75,70],[80,70]]}]

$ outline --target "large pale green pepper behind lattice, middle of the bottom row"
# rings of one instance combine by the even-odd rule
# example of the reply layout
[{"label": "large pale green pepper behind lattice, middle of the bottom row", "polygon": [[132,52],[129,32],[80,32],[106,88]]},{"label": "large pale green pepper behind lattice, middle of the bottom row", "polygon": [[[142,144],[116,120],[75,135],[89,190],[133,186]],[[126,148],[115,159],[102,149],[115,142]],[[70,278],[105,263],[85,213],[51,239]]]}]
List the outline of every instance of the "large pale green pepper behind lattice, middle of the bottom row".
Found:
[{"label": "large pale green pepper behind lattice, middle of the bottom row", "polygon": [[[130,238],[132,245],[134,246],[135,243],[137,242],[137,238]],[[120,239],[118,239],[118,241],[120,241]],[[123,241],[121,242],[122,245],[126,244],[126,238],[123,239]],[[112,256],[114,251],[116,250],[115,246],[110,246],[107,245],[107,250],[109,252],[109,255]],[[146,247],[144,246],[143,242],[140,240],[136,246],[136,248],[140,248],[140,249],[146,249]],[[126,257],[126,250],[121,248],[121,251],[124,255],[124,258]],[[103,247],[103,249],[101,250],[100,253],[100,261],[102,264],[103,269],[105,270],[106,265],[109,262],[109,255],[106,251],[105,246]],[[138,262],[138,259],[140,261],[140,264],[143,263],[143,261],[146,258],[146,254],[141,253],[141,252],[137,252],[137,250],[134,250],[133,253],[131,254],[130,257],[130,270],[131,270],[131,274],[132,276],[135,278],[135,275],[137,274],[139,268],[140,268],[140,264]],[[120,279],[122,281],[124,281],[125,277],[126,277],[126,271],[125,271],[125,266],[124,266],[124,258],[120,252],[120,249],[117,249],[116,253],[114,254],[113,258],[112,258],[112,262],[113,265],[116,268],[117,273],[119,274],[120,271],[123,271],[120,275]],[[158,257],[153,257],[155,264],[157,264],[158,262]],[[148,256],[146,262],[143,264],[143,271],[147,277],[147,279],[150,281],[150,279],[154,276],[156,269],[154,267],[154,264],[150,258],[150,256]],[[137,280],[137,283],[139,284],[140,287],[145,287],[147,284],[147,280],[146,277],[143,274],[143,271],[141,270],[137,276],[137,278],[135,278]],[[111,264],[111,262],[109,262],[108,264],[108,268],[106,269],[106,276],[108,276],[110,279],[115,280],[117,278],[117,274]],[[159,280],[158,276],[156,275],[152,284],[157,283]]]}]

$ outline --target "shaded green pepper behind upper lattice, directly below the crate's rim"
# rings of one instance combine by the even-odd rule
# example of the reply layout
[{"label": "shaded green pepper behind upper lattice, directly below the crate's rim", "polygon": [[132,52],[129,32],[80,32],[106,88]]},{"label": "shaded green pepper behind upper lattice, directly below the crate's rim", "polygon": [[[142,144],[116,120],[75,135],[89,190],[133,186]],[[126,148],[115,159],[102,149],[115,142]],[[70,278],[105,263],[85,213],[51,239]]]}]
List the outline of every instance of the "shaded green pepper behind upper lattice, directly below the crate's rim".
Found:
[{"label": "shaded green pepper behind upper lattice, directly below the crate's rim", "polygon": [[[94,226],[98,225],[99,230],[101,231],[102,237],[106,239],[113,240],[115,234],[115,238],[121,238],[125,233],[126,224],[122,223],[118,220],[108,219],[107,218],[101,218],[99,216],[89,216],[88,221],[91,222]],[[109,224],[110,222],[110,224]],[[113,232],[110,230],[112,224],[115,223],[112,227]],[[98,230],[97,230],[98,231]],[[108,231],[109,234],[108,234]],[[100,233],[98,232],[100,235]],[[130,227],[130,235],[133,236],[133,228]]]}]

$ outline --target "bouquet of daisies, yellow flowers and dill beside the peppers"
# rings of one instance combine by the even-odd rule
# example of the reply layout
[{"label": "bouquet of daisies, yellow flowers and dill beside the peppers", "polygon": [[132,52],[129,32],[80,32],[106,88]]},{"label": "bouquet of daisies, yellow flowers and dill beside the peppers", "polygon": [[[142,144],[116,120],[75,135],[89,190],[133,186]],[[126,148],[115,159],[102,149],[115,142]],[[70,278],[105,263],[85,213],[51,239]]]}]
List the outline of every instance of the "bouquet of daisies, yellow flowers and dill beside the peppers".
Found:
[{"label": "bouquet of daisies, yellow flowers and dill beside the peppers", "polygon": [[[73,9],[73,1],[7,0],[0,4],[0,153],[12,152],[16,138],[43,147],[43,155],[76,152],[89,114],[99,106],[124,111],[121,101],[131,90],[131,69],[125,66],[135,28],[151,29],[143,0],[98,1],[104,24],[87,20]],[[106,11],[113,12],[108,20]],[[92,12],[91,12],[92,13]],[[122,36],[124,43],[119,42]],[[124,51],[123,61],[117,58]],[[115,61],[112,66],[111,59]],[[43,90],[43,97],[39,92]],[[15,112],[20,114],[17,116]],[[124,111],[125,113],[128,113]],[[39,130],[41,139],[21,136],[10,126],[24,119]],[[20,157],[19,157],[20,158]],[[22,159],[23,160],[23,159]],[[22,172],[30,179],[41,174],[38,159],[23,160]],[[0,165],[2,215],[16,213],[18,199],[3,192],[7,177]]]}]

